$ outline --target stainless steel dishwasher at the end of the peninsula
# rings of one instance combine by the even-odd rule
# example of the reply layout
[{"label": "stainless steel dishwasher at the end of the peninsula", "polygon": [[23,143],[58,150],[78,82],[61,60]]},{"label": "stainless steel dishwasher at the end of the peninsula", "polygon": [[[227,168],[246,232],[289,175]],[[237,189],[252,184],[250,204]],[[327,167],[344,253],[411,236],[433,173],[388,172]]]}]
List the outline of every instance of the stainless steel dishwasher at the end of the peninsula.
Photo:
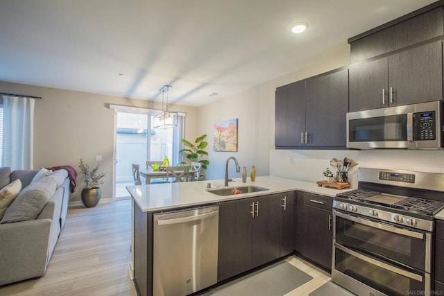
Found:
[{"label": "stainless steel dishwasher at the end of the peninsula", "polygon": [[217,282],[219,206],[154,215],[153,295],[194,293]]}]

